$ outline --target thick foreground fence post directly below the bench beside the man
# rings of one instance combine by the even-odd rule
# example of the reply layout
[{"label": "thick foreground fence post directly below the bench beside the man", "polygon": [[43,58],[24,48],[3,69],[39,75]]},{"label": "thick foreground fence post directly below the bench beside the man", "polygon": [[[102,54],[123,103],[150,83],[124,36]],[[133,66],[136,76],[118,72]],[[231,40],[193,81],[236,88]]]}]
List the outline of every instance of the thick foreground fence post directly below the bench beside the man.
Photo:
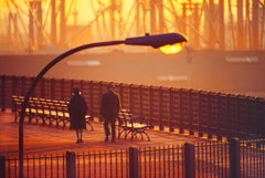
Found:
[{"label": "thick foreground fence post directly below the bench beside the man", "polygon": [[138,178],[138,149],[129,147],[129,178]]}]

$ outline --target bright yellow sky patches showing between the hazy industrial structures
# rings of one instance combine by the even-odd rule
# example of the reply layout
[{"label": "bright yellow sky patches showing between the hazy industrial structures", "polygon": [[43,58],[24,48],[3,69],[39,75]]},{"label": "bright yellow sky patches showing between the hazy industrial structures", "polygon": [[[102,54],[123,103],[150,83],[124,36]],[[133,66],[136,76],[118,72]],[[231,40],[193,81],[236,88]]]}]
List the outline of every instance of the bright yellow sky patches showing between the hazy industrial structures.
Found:
[{"label": "bright yellow sky patches showing between the hazy industrial structures", "polygon": [[[38,0],[0,0],[0,21],[1,24],[8,27],[10,24],[8,14],[9,12],[12,12],[13,14],[17,14],[17,23],[19,27],[19,34],[26,34],[29,33],[29,2],[30,1],[38,1]],[[42,0],[42,25],[43,25],[43,34],[44,38],[49,35],[49,33],[51,32],[51,1],[52,0]],[[149,2],[150,0],[139,0],[141,3],[144,1]],[[167,19],[167,23],[168,29],[170,31],[170,29],[174,29],[174,27],[172,25],[174,22],[172,22],[174,20],[173,14],[176,13],[182,13],[182,3],[183,2],[206,2],[209,0],[163,0],[163,4],[165,4],[165,11],[163,11],[163,15],[165,19]],[[215,3],[219,2],[219,0],[214,0]],[[60,2],[61,0],[55,0],[56,2],[56,24],[57,24],[57,29],[60,29]],[[136,1],[134,0],[120,0],[120,2],[123,3],[123,18],[119,19],[118,18],[118,13],[115,13],[115,21],[110,21],[109,20],[109,11],[110,9],[110,2],[112,0],[65,0],[65,15],[66,15],[66,25],[71,27],[73,24],[77,24],[80,25],[80,28],[87,28],[87,27],[93,27],[94,29],[91,30],[91,32],[93,33],[95,30],[98,30],[97,25],[99,24],[100,27],[100,31],[96,31],[98,34],[102,35],[96,35],[99,39],[91,39],[92,41],[98,41],[100,39],[106,39],[108,36],[110,36],[108,33],[105,32],[110,32],[110,29],[104,29],[105,24],[108,24],[109,22],[116,22],[115,25],[118,25],[117,29],[120,29],[119,31],[117,30],[116,33],[118,34],[118,36],[124,38],[124,36],[128,36],[129,35],[135,35],[135,31],[131,29],[135,29],[136,27]],[[118,3],[118,1],[115,1]],[[172,2],[173,6],[170,3]],[[236,4],[236,0],[230,0],[226,1],[224,0],[225,6],[227,6],[227,3],[231,2],[232,4],[232,9],[235,10],[235,4]],[[173,7],[173,8],[172,8]],[[208,9],[206,6],[202,4],[202,13],[200,12],[200,15],[203,17],[203,12],[206,12]],[[77,12],[76,14],[76,21],[74,19],[74,12]],[[227,8],[225,8],[225,11],[227,12]],[[108,12],[108,13],[104,13],[104,12]],[[225,12],[225,13],[226,13]],[[34,12],[34,14],[36,14],[36,11]],[[189,14],[189,11],[188,11]],[[227,15],[229,13],[225,14],[225,19],[231,18]],[[236,13],[235,13],[236,14]],[[99,17],[99,18],[98,18]],[[142,12],[140,13],[140,17],[144,18]],[[147,19],[147,21],[145,22],[145,27],[142,28],[142,31],[146,32],[150,32],[150,23],[148,23],[148,20],[150,20],[150,14],[147,13],[147,15],[145,17]],[[149,18],[149,19],[148,19]],[[203,18],[201,18],[203,19]],[[13,22],[13,21],[12,21]],[[34,19],[34,24],[40,24],[36,21],[36,18]],[[74,23],[76,22],[76,23]],[[98,22],[98,23],[95,23]],[[117,23],[120,22],[120,23]],[[142,21],[144,22],[144,21]],[[93,24],[93,25],[91,25]],[[83,25],[83,27],[81,27]],[[11,27],[12,28],[12,27]],[[93,31],[94,30],[94,31]],[[11,29],[12,31],[12,29]],[[78,34],[81,34],[82,31],[78,31]],[[123,32],[120,32],[123,31]],[[0,31],[0,33],[8,33],[9,29],[6,28],[3,30]],[[84,36],[84,34],[82,33],[82,36]],[[91,36],[91,35],[89,35]],[[72,39],[72,36],[70,36]],[[49,39],[49,38],[45,38]],[[81,40],[81,39],[78,39]],[[75,36],[75,41],[76,40]],[[72,43],[72,40],[68,40],[70,43]],[[82,42],[83,43],[83,42]]]}]

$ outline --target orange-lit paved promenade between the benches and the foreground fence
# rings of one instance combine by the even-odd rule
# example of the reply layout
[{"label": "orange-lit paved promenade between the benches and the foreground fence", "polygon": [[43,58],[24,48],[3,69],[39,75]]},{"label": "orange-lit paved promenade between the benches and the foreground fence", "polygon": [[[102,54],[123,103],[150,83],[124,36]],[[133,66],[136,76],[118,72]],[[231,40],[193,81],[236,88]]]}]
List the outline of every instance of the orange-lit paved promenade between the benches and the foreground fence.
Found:
[{"label": "orange-lit paved promenade between the benches and the foreground fence", "polygon": [[[134,142],[117,139],[115,143],[104,142],[103,125],[98,122],[92,123],[94,132],[84,130],[82,144],[75,143],[75,133],[67,128],[56,128],[36,124],[24,124],[24,153],[25,154],[50,154],[74,150],[76,153],[87,150],[126,149],[131,146],[167,146],[184,143],[206,142],[189,135],[148,130],[150,142],[137,139]],[[19,153],[19,124],[14,123],[14,114],[11,112],[0,113],[0,155],[18,155]]]}]

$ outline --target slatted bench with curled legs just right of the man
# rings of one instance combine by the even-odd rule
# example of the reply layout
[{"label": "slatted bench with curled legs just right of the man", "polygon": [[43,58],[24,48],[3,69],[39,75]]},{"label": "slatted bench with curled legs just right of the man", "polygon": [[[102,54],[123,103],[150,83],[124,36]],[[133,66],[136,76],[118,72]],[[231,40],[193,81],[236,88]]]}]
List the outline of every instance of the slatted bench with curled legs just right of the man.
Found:
[{"label": "slatted bench with curled legs just right of the man", "polygon": [[146,133],[150,128],[149,125],[145,123],[144,117],[131,114],[129,109],[119,112],[118,125],[118,138],[124,135],[124,139],[130,137],[130,140],[134,140],[134,138],[140,135],[141,139],[146,136],[147,140],[150,140],[148,133]]}]

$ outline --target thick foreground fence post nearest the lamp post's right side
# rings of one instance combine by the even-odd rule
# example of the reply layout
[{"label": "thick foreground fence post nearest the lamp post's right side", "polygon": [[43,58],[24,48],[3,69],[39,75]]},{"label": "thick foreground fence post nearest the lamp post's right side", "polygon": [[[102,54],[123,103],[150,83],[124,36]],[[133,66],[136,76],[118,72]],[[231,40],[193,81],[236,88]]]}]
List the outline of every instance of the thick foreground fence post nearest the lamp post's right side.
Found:
[{"label": "thick foreground fence post nearest the lamp post's right side", "polygon": [[76,167],[75,167],[75,153],[66,151],[66,178],[75,178]]}]

